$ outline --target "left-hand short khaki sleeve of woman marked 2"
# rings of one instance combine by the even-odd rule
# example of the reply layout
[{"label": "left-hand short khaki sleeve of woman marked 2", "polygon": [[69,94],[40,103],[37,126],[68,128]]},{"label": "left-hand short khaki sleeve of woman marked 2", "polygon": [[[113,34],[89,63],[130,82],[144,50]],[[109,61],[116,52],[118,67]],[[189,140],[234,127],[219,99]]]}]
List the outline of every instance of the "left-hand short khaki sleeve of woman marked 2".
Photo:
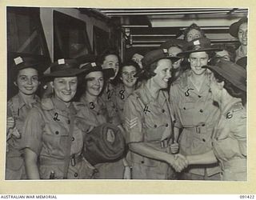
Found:
[{"label": "left-hand short khaki sleeve of woman marked 2", "polygon": [[40,154],[42,150],[42,131],[44,121],[42,114],[38,108],[32,108],[26,117],[23,126],[23,137],[25,141],[25,148],[30,148],[35,154]]}]

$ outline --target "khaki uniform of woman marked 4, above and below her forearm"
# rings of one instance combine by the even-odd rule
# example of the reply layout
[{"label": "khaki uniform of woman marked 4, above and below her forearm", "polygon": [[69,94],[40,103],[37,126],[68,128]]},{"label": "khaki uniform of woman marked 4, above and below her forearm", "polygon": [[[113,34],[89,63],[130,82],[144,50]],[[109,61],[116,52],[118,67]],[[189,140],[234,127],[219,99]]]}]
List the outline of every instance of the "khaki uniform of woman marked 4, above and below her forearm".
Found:
[{"label": "khaki uniform of woman marked 4, above and below her forearm", "polygon": [[[150,95],[146,85],[135,90],[124,104],[126,142],[146,142],[156,150],[167,151],[167,141],[173,130],[173,117],[168,94],[160,91],[158,99]],[[136,179],[167,179],[170,173],[166,162],[130,152],[132,177]],[[168,171],[169,170],[169,171]]]}]

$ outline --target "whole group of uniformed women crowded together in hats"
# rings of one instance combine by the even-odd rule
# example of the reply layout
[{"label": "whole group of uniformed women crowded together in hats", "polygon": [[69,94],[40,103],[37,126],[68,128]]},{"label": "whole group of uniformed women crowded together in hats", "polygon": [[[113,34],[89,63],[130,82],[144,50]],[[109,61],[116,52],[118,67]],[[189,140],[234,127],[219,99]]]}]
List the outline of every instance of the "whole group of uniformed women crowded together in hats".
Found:
[{"label": "whole group of uniformed women crowded together in hats", "polygon": [[[241,44],[233,62],[195,24],[123,63],[106,50],[41,76],[36,60],[14,58],[6,179],[245,181],[246,66],[234,62],[246,57],[247,18],[230,34]],[[40,100],[42,82],[51,95]]]}]

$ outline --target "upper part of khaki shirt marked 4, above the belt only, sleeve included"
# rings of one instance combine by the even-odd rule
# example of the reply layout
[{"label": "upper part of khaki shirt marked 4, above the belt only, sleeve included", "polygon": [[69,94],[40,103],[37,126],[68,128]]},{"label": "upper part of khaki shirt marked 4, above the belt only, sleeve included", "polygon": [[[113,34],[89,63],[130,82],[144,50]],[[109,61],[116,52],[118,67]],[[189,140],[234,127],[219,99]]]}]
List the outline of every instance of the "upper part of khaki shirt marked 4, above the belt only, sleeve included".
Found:
[{"label": "upper part of khaki shirt marked 4, above the belt only, sleeve included", "polygon": [[127,142],[160,142],[172,134],[168,94],[160,91],[156,100],[144,86],[135,90],[124,105]]}]

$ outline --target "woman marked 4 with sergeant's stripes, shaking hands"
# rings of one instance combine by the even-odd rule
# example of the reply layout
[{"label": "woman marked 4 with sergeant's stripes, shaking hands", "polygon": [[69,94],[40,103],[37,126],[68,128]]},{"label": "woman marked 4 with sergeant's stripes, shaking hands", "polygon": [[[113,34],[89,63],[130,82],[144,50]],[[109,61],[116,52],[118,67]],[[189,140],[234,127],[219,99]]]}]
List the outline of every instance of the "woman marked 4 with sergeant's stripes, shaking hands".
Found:
[{"label": "woman marked 4 with sergeant's stripes, shaking hands", "polygon": [[130,166],[134,179],[173,178],[179,170],[174,156],[168,152],[173,129],[173,117],[166,91],[172,62],[168,51],[154,50],[142,59],[148,80],[127,98],[124,105],[126,142],[131,151]]}]

